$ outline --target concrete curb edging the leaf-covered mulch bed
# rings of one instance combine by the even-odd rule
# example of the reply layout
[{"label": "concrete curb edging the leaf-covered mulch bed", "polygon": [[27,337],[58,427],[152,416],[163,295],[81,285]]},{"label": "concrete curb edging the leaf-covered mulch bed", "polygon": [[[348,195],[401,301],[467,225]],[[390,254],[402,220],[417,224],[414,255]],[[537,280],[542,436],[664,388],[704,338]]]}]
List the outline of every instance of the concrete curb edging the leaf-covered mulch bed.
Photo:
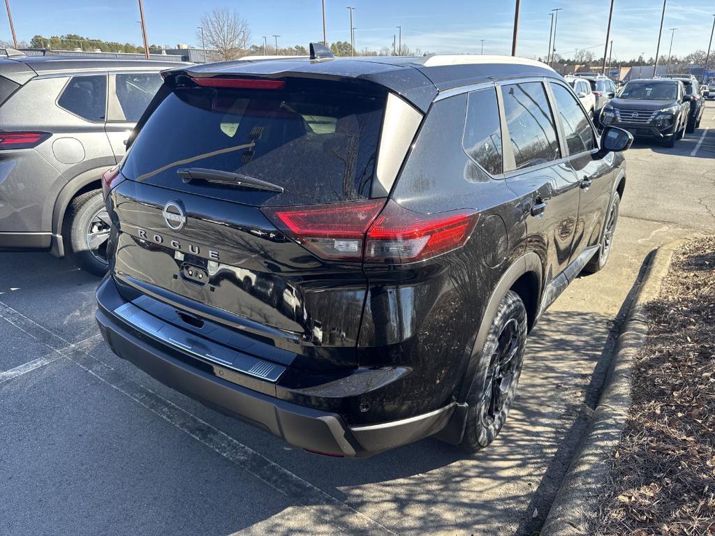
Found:
[{"label": "concrete curb edging the leaf-covered mulch bed", "polygon": [[603,392],[576,455],[551,505],[541,536],[583,536],[584,522],[596,514],[598,497],[608,476],[609,460],[621,440],[631,407],[631,366],[648,338],[646,304],[656,299],[671,257],[686,240],[665,244],[651,258],[626,321],[618,335]]}]

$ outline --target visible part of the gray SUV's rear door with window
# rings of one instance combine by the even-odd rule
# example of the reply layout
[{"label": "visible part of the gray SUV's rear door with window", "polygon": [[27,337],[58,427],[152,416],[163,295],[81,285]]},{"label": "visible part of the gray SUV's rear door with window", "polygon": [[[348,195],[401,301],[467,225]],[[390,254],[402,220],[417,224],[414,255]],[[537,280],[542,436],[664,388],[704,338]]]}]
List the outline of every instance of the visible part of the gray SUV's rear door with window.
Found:
[{"label": "visible part of the gray SUV's rear door with window", "polygon": [[157,71],[109,74],[105,128],[117,162],[124,157],[129,134],[161,85],[162,76]]}]

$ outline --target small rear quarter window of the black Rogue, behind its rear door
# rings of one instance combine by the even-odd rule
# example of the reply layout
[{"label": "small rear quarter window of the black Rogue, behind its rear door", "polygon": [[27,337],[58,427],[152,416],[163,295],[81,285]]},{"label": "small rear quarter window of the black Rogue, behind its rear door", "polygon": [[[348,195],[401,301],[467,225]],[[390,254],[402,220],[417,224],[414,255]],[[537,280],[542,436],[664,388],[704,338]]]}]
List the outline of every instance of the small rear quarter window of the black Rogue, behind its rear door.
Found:
[{"label": "small rear quarter window of the black Rogue, behind its rear door", "polygon": [[469,94],[462,146],[490,174],[503,172],[499,107],[493,88]]}]

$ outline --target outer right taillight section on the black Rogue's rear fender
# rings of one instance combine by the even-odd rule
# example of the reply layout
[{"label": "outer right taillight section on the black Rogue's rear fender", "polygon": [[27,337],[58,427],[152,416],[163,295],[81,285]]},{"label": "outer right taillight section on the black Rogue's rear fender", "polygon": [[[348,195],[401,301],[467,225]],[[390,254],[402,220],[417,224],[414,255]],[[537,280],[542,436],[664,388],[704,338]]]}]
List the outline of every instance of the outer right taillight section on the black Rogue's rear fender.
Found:
[{"label": "outer right taillight section on the black Rogue's rear fender", "polygon": [[415,262],[462,247],[477,223],[473,209],[418,214],[392,199],[368,229],[365,262]]}]

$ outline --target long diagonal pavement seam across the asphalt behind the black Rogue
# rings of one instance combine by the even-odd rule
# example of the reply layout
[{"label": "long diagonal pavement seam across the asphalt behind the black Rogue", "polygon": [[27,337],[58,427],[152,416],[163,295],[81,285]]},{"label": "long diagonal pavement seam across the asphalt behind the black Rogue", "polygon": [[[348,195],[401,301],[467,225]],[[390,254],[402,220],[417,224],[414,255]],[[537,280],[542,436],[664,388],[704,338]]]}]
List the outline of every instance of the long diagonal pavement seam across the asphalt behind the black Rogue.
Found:
[{"label": "long diagonal pavement seam across the asphalt behind the black Rogue", "polygon": [[[380,522],[373,520],[373,518],[363,514],[363,512],[355,510],[355,508],[345,504],[345,502],[333,497],[310,482],[307,482],[307,480],[295,475],[295,473],[290,472],[285,467],[282,467],[282,465],[278,465],[276,462],[269,460],[260,454],[260,452],[256,452],[250,447],[243,445],[226,432],[222,432],[222,430],[209,425],[208,422],[184,410],[184,408],[179,407],[174,404],[174,402],[165,399],[160,394],[149,389],[149,387],[127,378],[122,372],[114,369],[114,367],[105,363],[102,359],[90,354],[84,346],[87,345],[89,339],[98,337],[99,334],[89,337],[89,339],[84,339],[84,341],[77,344],[72,344],[3,302],[0,302],[0,317],[3,317],[15,327],[35,339],[39,339],[39,337],[36,337],[19,324],[24,324],[25,326],[31,324],[35,328],[39,328],[43,330],[43,332],[46,332],[46,334],[51,335],[51,339],[59,339],[66,342],[67,345],[61,349],[51,347],[46,342],[44,344],[50,346],[60,354],[58,359],[59,357],[66,357],[86,372],[89,372],[89,374],[97,377],[97,379],[108,384],[110,387],[117,389],[117,391],[134,400],[134,402],[137,402],[139,405],[142,405],[147,410],[169,422],[169,424],[182,430],[182,432],[185,432],[194,438],[194,440],[202,443],[202,445],[209,447],[209,449],[225,457],[234,465],[237,465],[237,467],[240,467],[277,492],[285,495],[285,497],[296,500],[300,504],[308,507],[315,512],[316,515],[340,530],[351,531],[351,534],[396,535],[395,532],[381,525]],[[8,317],[12,318],[12,320]]]}]

